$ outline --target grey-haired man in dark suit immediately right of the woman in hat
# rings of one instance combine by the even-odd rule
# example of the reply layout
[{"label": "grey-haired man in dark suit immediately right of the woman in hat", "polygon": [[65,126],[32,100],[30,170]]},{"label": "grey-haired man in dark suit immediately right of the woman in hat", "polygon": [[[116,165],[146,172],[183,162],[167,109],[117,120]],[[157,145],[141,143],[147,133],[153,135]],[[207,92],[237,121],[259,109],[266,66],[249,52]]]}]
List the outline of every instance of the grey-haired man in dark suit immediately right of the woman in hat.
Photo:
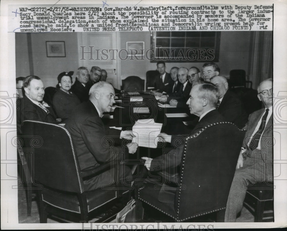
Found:
[{"label": "grey-haired man in dark suit immediately right of the woman in hat", "polygon": [[81,102],[88,101],[90,86],[87,84],[89,80],[89,72],[86,67],[79,67],[75,83],[71,87],[73,92]]}]

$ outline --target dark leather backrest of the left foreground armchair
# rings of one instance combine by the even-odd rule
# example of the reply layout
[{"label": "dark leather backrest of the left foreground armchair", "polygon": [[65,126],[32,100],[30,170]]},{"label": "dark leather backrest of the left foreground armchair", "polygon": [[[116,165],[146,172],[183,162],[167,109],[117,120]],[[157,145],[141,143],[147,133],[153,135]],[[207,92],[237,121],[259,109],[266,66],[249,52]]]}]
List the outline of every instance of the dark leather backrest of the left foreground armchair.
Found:
[{"label": "dark leather backrest of the left foreground armchair", "polygon": [[68,130],[57,124],[26,120],[22,131],[24,148],[34,154],[34,180],[54,189],[82,193],[83,180]]}]

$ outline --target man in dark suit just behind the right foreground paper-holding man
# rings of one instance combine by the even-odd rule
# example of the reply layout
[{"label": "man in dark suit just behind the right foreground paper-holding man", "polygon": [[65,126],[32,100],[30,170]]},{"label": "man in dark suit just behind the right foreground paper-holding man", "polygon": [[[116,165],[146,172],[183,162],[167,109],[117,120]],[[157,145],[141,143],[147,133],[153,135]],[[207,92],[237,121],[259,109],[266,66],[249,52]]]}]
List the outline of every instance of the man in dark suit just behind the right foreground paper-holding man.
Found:
[{"label": "man in dark suit just behind the right foreground paper-holding man", "polygon": [[219,101],[218,111],[227,122],[235,124],[238,128],[243,128],[247,123],[248,115],[245,112],[239,97],[228,90],[227,79],[224,76],[213,76],[210,82],[218,89]]}]

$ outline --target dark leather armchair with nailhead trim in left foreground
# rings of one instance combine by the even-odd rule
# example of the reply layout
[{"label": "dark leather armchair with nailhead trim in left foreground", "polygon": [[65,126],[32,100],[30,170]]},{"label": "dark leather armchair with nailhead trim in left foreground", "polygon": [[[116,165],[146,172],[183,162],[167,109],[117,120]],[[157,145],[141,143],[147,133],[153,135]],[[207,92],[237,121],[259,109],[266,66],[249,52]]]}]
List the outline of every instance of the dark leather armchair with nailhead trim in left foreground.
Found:
[{"label": "dark leather armchair with nailhead trim in left foreground", "polygon": [[[117,182],[112,182],[108,188],[85,190],[84,178],[115,166],[119,168],[119,164],[111,166],[114,163],[108,162],[81,171],[71,136],[63,126],[27,120],[24,121],[23,131],[26,137],[34,136],[28,145],[33,146],[34,181],[42,185],[42,189],[38,190],[41,223],[47,222],[48,214],[65,220],[88,221],[92,218],[91,212],[102,209],[103,205],[124,194],[128,195],[129,190],[122,189]],[[27,139],[24,137],[25,145]],[[103,217],[97,222],[106,219],[108,217]]]}]

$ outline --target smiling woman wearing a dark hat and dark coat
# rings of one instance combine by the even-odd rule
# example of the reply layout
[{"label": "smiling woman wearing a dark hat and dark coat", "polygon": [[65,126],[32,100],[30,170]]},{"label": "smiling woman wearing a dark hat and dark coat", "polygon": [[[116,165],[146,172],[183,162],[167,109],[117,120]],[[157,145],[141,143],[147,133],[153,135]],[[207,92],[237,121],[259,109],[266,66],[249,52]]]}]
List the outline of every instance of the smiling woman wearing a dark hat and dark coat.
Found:
[{"label": "smiling woman wearing a dark hat and dark coat", "polygon": [[53,97],[53,105],[58,117],[61,118],[62,121],[67,119],[75,106],[81,103],[78,97],[70,91],[73,74],[74,72],[70,71],[62,72],[58,75],[60,89]]}]

